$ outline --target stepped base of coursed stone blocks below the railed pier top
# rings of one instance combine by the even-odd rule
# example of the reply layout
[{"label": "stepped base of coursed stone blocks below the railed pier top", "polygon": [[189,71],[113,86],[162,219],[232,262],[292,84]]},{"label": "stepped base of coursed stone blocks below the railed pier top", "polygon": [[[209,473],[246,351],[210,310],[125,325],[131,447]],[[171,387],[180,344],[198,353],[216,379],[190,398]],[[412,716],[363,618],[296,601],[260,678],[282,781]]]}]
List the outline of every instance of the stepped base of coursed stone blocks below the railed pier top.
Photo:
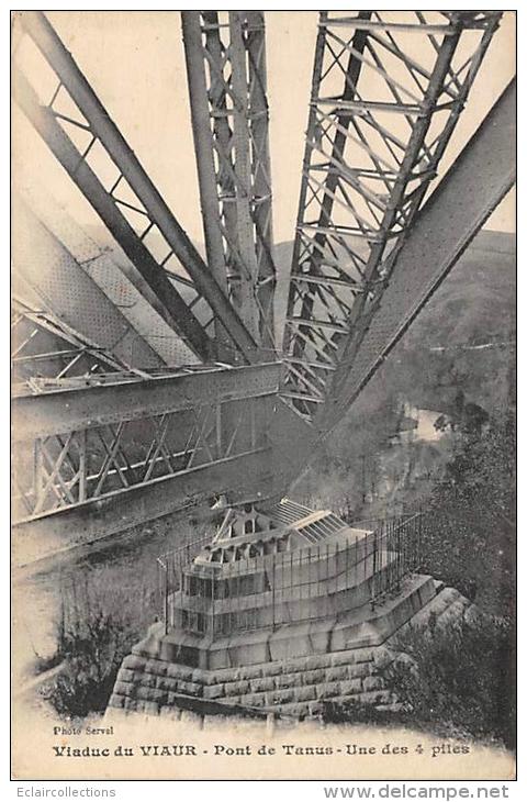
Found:
[{"label": "stepped base of coursed stone blocks below the railed pier top", "polygon": [[[338,621],[202,644],[198,657],[212,655],[206,668],[178,659],[177,634],[165,635],[162,625],[155,624],[124,659],[110,708],[157,714],[194,705],[202,712],[244,709],[298,719],[317,715],[325,700],[396,710],[383,673],[397,654],[397,635],[408,626],[426,625],[430,616],[436,626],[447,626],[470,606],[452,588],[430,577],[413,577],[396,598],[377,605],[366,619],[362,610],[360,616],[351,613]],[[187,655],[192,654],[189,648],[187,643]],[[224,665],[228,657],[236,665]]]}]

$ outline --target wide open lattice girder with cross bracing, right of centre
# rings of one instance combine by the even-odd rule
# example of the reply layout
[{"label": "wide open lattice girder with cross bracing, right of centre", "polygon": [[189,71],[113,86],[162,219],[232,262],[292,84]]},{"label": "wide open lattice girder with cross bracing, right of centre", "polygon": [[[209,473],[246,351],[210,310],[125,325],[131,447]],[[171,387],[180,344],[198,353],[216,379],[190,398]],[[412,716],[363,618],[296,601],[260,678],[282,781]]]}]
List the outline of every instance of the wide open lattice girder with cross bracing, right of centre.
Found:
[{"label": "wide open lattice girder with cross bracing, right of centre", "polygon": [[321,13],[283,343],[283,396],[319,426],[329,423],[326,402],[336,409],[500,16]]}]

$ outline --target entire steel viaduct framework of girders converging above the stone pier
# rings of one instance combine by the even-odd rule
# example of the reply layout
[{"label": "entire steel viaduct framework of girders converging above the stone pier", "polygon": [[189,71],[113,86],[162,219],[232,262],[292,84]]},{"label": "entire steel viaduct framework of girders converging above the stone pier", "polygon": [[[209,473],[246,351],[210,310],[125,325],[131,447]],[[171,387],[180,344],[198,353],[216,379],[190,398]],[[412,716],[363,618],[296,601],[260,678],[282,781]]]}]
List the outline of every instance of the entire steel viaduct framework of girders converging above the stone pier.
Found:
[{"label": "entire steel viaduct framework of girders converging above the stone pier", "polygon": [[15,193],[18,564],[274,504],[508,192],[514,81],[440,169],[501,13],[396,16],[318,16],[277,331],[264,13],[181,12],[204,256],[46,15],[20,14],[40,69],[15,55],[14,101],[123,258]]}]

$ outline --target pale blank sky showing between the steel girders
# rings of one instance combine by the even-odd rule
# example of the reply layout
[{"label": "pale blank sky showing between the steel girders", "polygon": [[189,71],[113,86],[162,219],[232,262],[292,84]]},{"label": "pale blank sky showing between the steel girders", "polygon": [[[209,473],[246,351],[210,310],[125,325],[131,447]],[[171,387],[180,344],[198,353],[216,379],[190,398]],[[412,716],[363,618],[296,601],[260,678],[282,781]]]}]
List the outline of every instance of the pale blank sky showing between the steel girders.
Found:
[{"label": "pale blank sky showing between the steel girders", "polygon": [[[48,16],[178,220],[192,240],[202,242],[179,13],[72,11]],[[294,234],[316,20],[313,11],[266,13],[276,242]],[[514,14],[506,12],[442,169],[514,75]],[[26,37],[19,38],[15,31],[13,44],[15,58],[38,75]],[[13,133],[15,181],[31,188],[37,176],[79,222],[96,223],[94,212],[18,111]],[[514,218],[511,192],[486,227],[513,231]]]}]

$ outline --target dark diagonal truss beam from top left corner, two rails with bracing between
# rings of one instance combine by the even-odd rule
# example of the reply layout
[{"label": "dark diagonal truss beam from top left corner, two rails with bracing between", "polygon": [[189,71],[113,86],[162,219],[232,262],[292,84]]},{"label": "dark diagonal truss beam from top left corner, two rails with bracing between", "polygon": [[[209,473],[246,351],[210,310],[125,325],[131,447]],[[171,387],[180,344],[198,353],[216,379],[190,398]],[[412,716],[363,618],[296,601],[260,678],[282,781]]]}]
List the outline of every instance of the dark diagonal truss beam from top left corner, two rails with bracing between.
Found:
[{"label": "dark diagonal truss beam from top left corner, two rails with bracing between", "polygon": [[[21,20],[56,88],[42,105],[15,70],[15,97],[131,259],[135,270],[128,278],[200,358],[214,356],[214,326],[221,323],[233,361],[253,361],[256,344],[70,53],[42,12],[24,12]],[[81,135],[86,141],[79,148],[75,143]],[[98,176],[101,156],[104,176]]]}]

